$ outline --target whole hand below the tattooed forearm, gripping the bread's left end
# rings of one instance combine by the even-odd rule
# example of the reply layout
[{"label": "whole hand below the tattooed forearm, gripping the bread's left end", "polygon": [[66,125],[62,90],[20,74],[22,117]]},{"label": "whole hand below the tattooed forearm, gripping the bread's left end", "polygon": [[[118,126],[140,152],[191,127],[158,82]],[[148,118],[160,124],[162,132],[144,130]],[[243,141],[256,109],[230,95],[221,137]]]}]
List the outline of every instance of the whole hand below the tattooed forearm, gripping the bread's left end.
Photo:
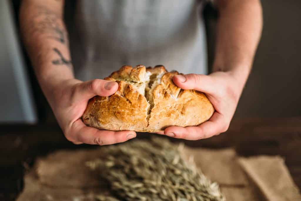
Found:
[{"label": "whole hand below the tattooed forearm, gripping the bread's left end", "polygon": [[106,131],[86,126],[81,119],[88,100],[96,95],[110,96],[118,89],[116,82],[95,79],[82,82],[66,80],[57,85],[49,100],[65,137],[74,144],[115,144],[136,137],[135,131]]}]

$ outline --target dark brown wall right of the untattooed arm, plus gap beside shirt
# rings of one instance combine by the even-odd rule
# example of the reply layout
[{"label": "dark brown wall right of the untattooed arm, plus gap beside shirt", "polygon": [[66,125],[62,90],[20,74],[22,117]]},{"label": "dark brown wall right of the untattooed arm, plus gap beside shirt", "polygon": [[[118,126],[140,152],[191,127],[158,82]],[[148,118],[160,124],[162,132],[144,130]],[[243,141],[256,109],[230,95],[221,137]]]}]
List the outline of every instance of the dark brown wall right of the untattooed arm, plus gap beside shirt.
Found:
[{"label": "dark brown wall right of the untattooed arm, plus gap beside shirt", "polygon": [[[263,31],[234,118],[301,115],[301,1],[262,1]],[[216,18],[205,10],[209,64]]]}]

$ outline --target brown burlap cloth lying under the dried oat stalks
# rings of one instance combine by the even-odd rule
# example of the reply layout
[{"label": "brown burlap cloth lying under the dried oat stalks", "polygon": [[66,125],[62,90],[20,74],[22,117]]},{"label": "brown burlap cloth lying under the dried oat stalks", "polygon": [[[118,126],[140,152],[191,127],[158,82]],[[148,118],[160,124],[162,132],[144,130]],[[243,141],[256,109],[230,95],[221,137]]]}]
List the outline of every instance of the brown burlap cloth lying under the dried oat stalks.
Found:
[{"label": "brown burlap cloth lying under the dried oat stalks", "polygon": [[[25,187],[17,201],[88,201],[106,193],[86,161],[101,155],[96,150],[61,150],[37,159],[35,168],[25,175]],[[219,183],[226,200],[301,200],[299,190],[279,156],[238,157],[233,149],[184,148],[197,168],[211,181]]]}]

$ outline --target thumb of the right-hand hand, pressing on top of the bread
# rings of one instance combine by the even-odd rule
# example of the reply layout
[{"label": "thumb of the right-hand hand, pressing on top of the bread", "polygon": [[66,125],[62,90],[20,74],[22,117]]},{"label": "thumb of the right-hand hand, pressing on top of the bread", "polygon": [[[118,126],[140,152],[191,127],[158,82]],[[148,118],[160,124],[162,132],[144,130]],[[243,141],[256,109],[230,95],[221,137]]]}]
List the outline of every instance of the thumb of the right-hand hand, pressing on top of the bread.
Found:
[{"label": "thumb of the right-hand hand, pressing on top of the bread", "polygon": [[182,89],[194,89],[208,94],[213,93],[214,89],[216,88],[212,77],[207,75],[176,75],[173,76],[172,80],[175,85]]}]

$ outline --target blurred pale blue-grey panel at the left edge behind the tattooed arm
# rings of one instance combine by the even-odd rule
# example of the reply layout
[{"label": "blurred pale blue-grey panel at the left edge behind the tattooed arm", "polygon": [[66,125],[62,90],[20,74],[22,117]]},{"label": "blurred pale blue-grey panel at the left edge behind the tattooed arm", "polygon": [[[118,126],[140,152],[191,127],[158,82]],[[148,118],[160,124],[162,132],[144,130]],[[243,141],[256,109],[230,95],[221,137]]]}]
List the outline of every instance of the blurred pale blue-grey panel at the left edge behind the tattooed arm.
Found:
[{"label": "blurred pale blue-grey panel at the left edge behind the tattooed arm", "polygon": [[0,123],[34,123],[32,92],[10,0],[0,1]]}]

